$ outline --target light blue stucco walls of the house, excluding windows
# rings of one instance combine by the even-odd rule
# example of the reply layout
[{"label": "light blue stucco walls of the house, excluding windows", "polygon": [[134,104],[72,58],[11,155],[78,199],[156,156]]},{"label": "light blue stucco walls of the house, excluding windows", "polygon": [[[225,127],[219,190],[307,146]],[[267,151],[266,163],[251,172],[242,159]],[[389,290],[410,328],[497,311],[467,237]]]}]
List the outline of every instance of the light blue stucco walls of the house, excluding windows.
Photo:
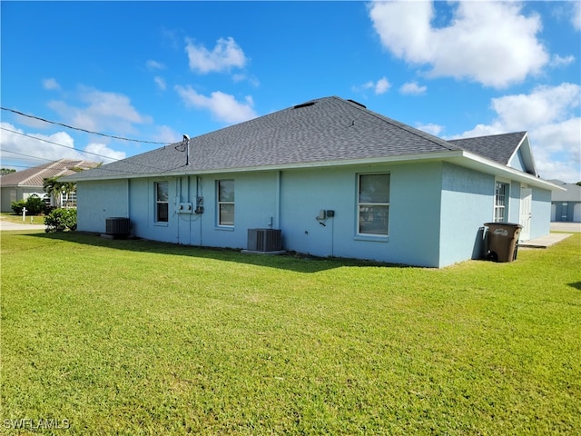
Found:
[{"label": "light blue stucco walls of the house, excluding windows", "polygon": [[[358,234],[358,176],[389,173],[389,235]],[[218,225],[217,181],[234,180],[233,226]],[[169,219],[155,223],[154,186],[166,181]],[[477,258],[494,216],[495,177],[442,162],[381,163],[249,173],[79,182],[78,229],[103,233],[105,219],[129,217],[135,236],[169,243],[247,248],[248,229],[281,229],[284,249],[316,256],[443,267]],[[518,220],[519,184],[508,216]],[[203,213],[179,213],[182,203]],[[550,192],[533,190],[531,237],[549,232]],[[320,210],[334,216],[322,223]],[[546,218],[546,219],[545,219]],[[537,221],[538,220],[538,221]],[[324,224],[324,225],[323,225]]]}]

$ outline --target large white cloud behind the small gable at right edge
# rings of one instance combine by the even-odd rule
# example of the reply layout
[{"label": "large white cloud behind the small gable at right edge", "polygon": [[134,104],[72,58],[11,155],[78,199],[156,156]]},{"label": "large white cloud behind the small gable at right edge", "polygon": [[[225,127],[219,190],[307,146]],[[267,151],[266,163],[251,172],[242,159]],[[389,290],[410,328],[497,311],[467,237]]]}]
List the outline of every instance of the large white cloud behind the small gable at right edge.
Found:
[{"label": "large white cloud behind the small gable at right edge", "polygon": [[497,117],[455,137],[527,131],[545,179],[576,183],[581,180],[581,86],[538,86],[530,94],[506,95],[492,100]]}]

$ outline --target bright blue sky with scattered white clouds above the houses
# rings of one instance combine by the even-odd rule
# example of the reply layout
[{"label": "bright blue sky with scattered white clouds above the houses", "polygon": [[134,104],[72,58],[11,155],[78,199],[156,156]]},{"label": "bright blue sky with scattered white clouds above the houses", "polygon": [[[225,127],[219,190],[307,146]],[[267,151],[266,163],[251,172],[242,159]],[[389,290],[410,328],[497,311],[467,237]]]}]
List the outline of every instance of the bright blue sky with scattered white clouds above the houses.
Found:
[{"label": "bright blue sky with scattered white clouds above the houses", "polygon": [[[1,102],[166,144],[337,95],[445,139],[527,131],[541,176],[575,183],[580,5],[3,1]],[[17,170],[161,146],[0,116]]]}]

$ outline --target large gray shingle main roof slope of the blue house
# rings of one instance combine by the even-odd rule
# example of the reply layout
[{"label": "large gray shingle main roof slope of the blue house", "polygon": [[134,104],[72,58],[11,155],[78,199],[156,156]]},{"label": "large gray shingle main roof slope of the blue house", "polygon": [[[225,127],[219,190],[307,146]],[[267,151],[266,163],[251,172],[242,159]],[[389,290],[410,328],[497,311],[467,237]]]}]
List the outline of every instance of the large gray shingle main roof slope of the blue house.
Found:
[{"label": "large gray shingle main roof slope of the blue house", "polygon": [[219,172],[461,150],[458,144],[339,97],[312,100],[192,138],[187,167],[179,151],[183,148],[166,145],[67,179]]}]

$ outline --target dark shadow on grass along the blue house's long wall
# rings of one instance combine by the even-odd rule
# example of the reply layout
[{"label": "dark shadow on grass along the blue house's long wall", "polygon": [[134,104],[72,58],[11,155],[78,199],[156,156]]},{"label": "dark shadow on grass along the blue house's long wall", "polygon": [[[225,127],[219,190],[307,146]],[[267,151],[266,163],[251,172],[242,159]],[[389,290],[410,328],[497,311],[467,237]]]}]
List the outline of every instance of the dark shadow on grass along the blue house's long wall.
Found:
[{"label": "dark shadow on grass along the blue house's long wall", "polygon": [[113,250],[127,250],[138,253],[171,254],[177,256],[213,259],[224,262],[247,263],[256,266],[278,268],[294,272],[320,272],[343,266],[369,267],[381,266],[388,268],[414,268],[413,266],[395,263],[379,263],[346,258],[323,258],[303,253],[286,253],[279,255],[241,253],[240,249],[199,247],[162,243],[145,239],[107,239],[97,233],[26,233],[26,236],[42,239],[82,243],[94,247],[105,247]]}]

